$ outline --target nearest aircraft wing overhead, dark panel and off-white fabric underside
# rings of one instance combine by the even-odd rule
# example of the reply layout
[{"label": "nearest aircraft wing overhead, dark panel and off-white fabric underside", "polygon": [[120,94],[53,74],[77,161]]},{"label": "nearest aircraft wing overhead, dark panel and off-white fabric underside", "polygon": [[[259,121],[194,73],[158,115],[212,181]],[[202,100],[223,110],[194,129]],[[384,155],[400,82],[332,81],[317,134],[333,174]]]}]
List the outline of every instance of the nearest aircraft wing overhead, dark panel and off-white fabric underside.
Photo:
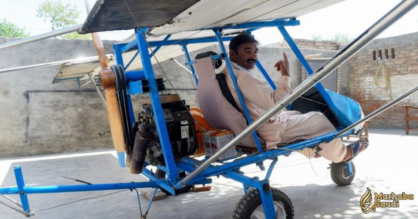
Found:
[{"label": "nearest aircraft wing overhead, dark panel and off-white fabric underside", "polygon": [[344,0],[196,1],[98,0],[78,32],[154,26],[151,33],[161,36],[226,24],[295,18]]}]

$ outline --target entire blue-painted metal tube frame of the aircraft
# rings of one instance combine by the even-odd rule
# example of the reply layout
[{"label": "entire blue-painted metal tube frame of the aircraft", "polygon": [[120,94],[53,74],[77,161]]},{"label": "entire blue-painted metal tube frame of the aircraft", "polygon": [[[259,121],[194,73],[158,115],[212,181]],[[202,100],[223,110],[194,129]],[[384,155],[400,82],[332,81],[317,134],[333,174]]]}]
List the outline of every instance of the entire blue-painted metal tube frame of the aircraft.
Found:
[{"label": "entire blue-painted metal tube frame of the aircraft", "polygon": [[[241,106],[245,111],[245,115],[246,115],[248,123],[251,123],[251,118],[249,117],[249,113],[246,110],[244,98],[238,88],[235,75],[232,73],[233,72],[232,66],[228,59],[228,56],[227,56],[228,54],[226,53],[225,47],[223,45],[223,41],[229,41],[233,37],[222,37],[221,30],[222,29],[249,28],[247,29],[246,32],[250,33],[251,31],[259,29],[261,27],[277,26],[280,32],[282,33],[283,37],[285,38],[285,40],[288,42],[288,44],[292,48],[296,57],[302,63],[302,66],[304,66],[307,72],[311,74],[313,72],[312,68],[306,62],[300,50],[297,48],[296,44],[293,42],[292,38],[289,36],[289,34],[284,28],[284,26],[286,25],[298,25],[298,24],[299,24],[299,21],[295,19],[274,20],[270,22],[248,22],[248,23],[243,23],[239,25],[227,25],[221,28],[209,28],[215,31],[215,37],[205,37],[205,38],[185,39],[185,40],[168,40],[170,38],[170,35],[168,35],[163,41],[159,41],[159,42],[147,42],[147,40],[144,37],[145,35],[143,32],[144,30],[146,30],[146,28],[136,29],[135,30],[136,39],[134,41],[128,44],[115,44],[114,45],[116,62],[119,65],[124,66],[122,52],[131,50],[131,49],[138,49],[137,54],[139,54],[141,57],[143,70],[125,71],[125,78],[126,78],[127,87],[128,87],[127,92],[128,94],[142,93],[142,89],[139,90],[140,88],[142,88],[141,80],[144,78],[148,79],[149,88],[150,88],[149,96],[151,100],[151,106],[155,115],[154,117],[155,123],[156,123],[156,127],[159,133],[160,142],[161,142],[163,155],[165,159],[165,166],[161,166],[157,168],[167,173],[167,179],[159,178],[150,170],[148,170],[147,168],[144,168],[143,175],[145,175],[149,179],[149,181],[147,182],[109,183],[109,184],[93,184],[93,185],[25,186],[22,170],[20,166],[16,166],[15,176],[16,176],[17,187],[0,188],[0,194],[19,194],[21,197],[24,211],[27,213],[30,212],[30,208],[29,208],[29,202],[28,202],[26,194],[31,194],[31,193],[59,193],[59,192],[80,192],[80,191],[97,191],[97,190],[111,190],[111,189],[134,189],[134,188],[161,187],[169,191],[170,193],[174,194],[174,189],[179,189],[183,186],[181,184],[181,180],[179,180],[178,171],[185,171],[185,172],[191,173],[197,169],[200,161],[197,161],[193,158],[188,158],[188,157],[183,158],[183,160],[181,161],[180,160],[174,161],[170,139],[169,139],[165,119],[163,116],[164,114],[162,111],[161,102],[159,99],[158,89],[156,86],[155,76],[154,76],[154,72],[152,69],[150,58],[163,45],[182,46],[183,51],[186,55],[186,60],[188,62],[187,64],[190,66],[191,71],[193,72],[196,83],[197,83],[195,69],[192,66],[194,61],[191,60],[186,45],[195,44],[195,43],[219,42],[221,46],[222,54],[225,57],[226,66],[229,72],[231,73],[231,77],[233,78],[234,87],[237,90],[237,93],[241,102]],[[151,54],[148,53],[148,46],[156,47]],[[136,58],[136,56],[137,55],[134,55],[131,61],[129,61],[128,65],[125,66],[125,69],[132,63],[132,61]],[[212,58],[216,58],[216,57],[212,57]],[[256,63],[256,66],[264,75],[264,77],[270,84],[270,87],[274,90],[276,86],[274,85],[273,81],[270,79],[270,76],[267,74],[266,70],[263,68],[263,66],[259,62]],[[63,80],[66,80],[66,79],[63,79]],[[328,101],[330,100],[326,98],[327,95],[323,95],[322,92],[325,92],[325,90],[320,85],[320,83],[317,84],[317,88],[321,92],[322,96],[324,96],[325,101],[327,101],[328,103]],[[328,105],[330,107],[333,106],[330,103],[328,103]],[[130,117],[132,118],[131,122],[133,123],[135,122],[135,117],[134,117],[130,95],[128,95],[128,108],[129,108],[128,110],[129,110]],[[304,148],[315,146],[323,142],[329,142],[335,138],[337,132],[338,131],[328,133],[328,134],[321,135],[313,139],[290,144],[285,147],[282,147],[276,150],[269,150],[266,152],[262,151],[261,144],[258,140],[256,132],[253,132],[252,134],[256,140],[259,153],[240,157],[240,158],[234,159],[231,162],[224,163],[222,165],[214,165],[214,164],[209,165],[203,172],[196,175],[191,181],[189,181],[188,184],[192,185],[192,184],[211,183],[212,180],[209,177],[219,176],[219,175],[223,175],[227,178],[231,178],[236,181],[242,182],[244,185],[245,193],[247,192],[248,186],[254,187],[260,191],[263,208],[265,209],[265,216],[267,219],[273,219],[275,217],[275,212],[274,212],[272,194],[271,194],[271,191],[269,189],[270,187],[268,186],[268,184],[269,184],[269,178],[272,173],[272,170],[275,164],[277,163],[277,156],[289,154],[293,150],[302,150]],[[344,136],[349,135],[352,132],[353,131],[348,131],[344,134]],[[267,170],[265,179],[260,180],[258,177],[251,178],[251,177],[244,175],[242,172],[240,172],[240,168],[247,166],[247,165],[254,164],[254,163],[259,165],[261,168],[262,162],[266,159],[271,159],[272,162],[270,164],[269,169]],[[148,164],[146,164],[146,166],[148,166]],[[352,167],[349,164],[347,164],[347,173],[352,174]]]}]

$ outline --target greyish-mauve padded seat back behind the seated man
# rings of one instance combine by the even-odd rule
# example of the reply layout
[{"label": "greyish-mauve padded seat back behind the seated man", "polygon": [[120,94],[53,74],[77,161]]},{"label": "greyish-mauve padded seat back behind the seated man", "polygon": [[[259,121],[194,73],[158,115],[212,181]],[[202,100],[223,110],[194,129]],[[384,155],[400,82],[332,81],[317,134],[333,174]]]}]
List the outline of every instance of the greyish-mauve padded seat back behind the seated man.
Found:
[{"label": "greyish-mauve padded seat back behind the seated man", "polygon": [[[247,127],[246,119],[223,96],[215,75],[215,66],[212,58],[196,59],[195,65],[197,76],[199,77],[197,102],[206,121],[215,129],[232,130],[235,134],[243,131]],[[247,136],[239,145],[256,147],[252,135]]]}]

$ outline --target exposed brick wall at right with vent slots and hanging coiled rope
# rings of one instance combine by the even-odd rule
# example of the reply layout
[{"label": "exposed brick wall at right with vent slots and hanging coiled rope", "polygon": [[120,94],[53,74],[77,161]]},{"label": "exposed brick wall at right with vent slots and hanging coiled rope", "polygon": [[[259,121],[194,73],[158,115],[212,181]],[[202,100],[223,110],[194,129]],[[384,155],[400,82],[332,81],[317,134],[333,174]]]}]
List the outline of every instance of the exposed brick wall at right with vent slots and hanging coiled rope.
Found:
[{"label": "exposed brick wall at right with vent slots and hanging coiled rope", "polygon": [[[382,60],[379,60],[379,50]],[[373,54],[376,60],[373,60]],[[385,65],[389,70],[392,98],[389,94],[385,95],[383,89],[377,88],[373,81],[379,65]],[[361,104],[366,115],[414,88],[418,85],[418,33],[374,40],[348,61],[348,75],[349,94]],[[382,87],[385,86],[386,81],[381,72],[377,82]],[[369,126],[403,129],[405,121],[402,105],[418,106],[418,94],[373,118]],[[418,123],[410,122],[410,126],[418,127]]]}]

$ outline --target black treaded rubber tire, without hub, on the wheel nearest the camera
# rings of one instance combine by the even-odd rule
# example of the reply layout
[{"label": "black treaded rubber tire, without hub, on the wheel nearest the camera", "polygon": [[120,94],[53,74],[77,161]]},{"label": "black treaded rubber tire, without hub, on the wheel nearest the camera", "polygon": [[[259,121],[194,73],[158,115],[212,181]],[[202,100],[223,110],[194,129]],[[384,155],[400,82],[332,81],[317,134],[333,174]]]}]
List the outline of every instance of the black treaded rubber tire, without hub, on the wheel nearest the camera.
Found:
[{"label": "black treaded rubber tire, without hub, on the wheel nearest the camera", "polygon": [[[284,207],[286,219],[293,219],[295,213],[290,198],[276,188],[271,188],[271,193],[273,195],[273,201],[280,202],[280,204]],[[256,210],[261,204],[260,192],[257,189],[253,189],[238,201],[232,218],[251,219],[251,215],[254,210]]]}]

